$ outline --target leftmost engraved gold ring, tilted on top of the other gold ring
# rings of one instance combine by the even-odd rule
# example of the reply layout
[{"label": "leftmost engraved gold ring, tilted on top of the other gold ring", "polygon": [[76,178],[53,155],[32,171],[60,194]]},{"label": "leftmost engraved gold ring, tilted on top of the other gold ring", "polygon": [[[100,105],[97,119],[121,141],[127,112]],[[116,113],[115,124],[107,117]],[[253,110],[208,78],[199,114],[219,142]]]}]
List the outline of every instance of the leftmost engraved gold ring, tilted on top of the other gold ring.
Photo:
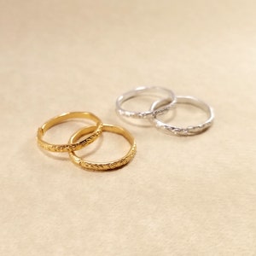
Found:
[{"label": "leftmost engraved gold ring, tilted on top of the other gold ring", "polygon": [[[90,137],[85,138],[83,141],[79,143],[69,143],[69,144],[50,144],[46,143],[43,140],[43,136],[46,131],[49,130],[49,128],[58,125],[60,123],[63,123],[67,119],[91,119],[96,122],[96,125],[94,126],[95,129],[90,135]],[[71,152],[74,150],[79,150],[81,148],[84,148],[86,145],[89,145],[90,143],[93,143],[97,137],[99,137],[102,134],[102,121],[96,115],[89,112],[69,112],[69,113],[62,113],[61,115],[58,115],[54,117],[53,119],[49,119],[44,125],[42,125],[40,128],[38,128],[38,145],[41,148],[44,148],[45,150],[49,150],[52,152]]]}]

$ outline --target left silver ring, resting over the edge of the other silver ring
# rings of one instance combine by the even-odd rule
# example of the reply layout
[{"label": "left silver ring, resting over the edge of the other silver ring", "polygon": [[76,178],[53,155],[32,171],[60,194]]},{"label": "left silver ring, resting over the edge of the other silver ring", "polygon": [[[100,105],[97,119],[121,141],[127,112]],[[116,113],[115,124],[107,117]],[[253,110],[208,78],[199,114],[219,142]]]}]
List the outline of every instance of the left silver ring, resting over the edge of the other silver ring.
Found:
[{"label": "left silver ring, resting over the edge of the other silver ring", "polygon": [[[145,112],[134,112],[125,110],[124,108],[121,108],[122,104],[131,98],[134,98],[136,96],[142,96],[142,95],[148,95],[148,93],[154,93],[154,96],[156,93],[162,93],[165,95],[164,98],[160,99],[160,101],[165,100],[166,105],[160,106],[160,108],[157,109],[151,109],[150,111]],[[157,102],[160,102],[157,101]],[[157,103],[156,102],[156,103]],[[166,113],[172,106],[174,106],[176,103],[176,96],[172,92],[172,90],[168,90],[161,87],[138,87],[135,90],[131,90],[126,92],[125,94],[118,97],[116,101],[116,111],[120,115],[124,115],[126,117],[132,117],[135,119],[151,119],[154,118],[155,115]]]}]

